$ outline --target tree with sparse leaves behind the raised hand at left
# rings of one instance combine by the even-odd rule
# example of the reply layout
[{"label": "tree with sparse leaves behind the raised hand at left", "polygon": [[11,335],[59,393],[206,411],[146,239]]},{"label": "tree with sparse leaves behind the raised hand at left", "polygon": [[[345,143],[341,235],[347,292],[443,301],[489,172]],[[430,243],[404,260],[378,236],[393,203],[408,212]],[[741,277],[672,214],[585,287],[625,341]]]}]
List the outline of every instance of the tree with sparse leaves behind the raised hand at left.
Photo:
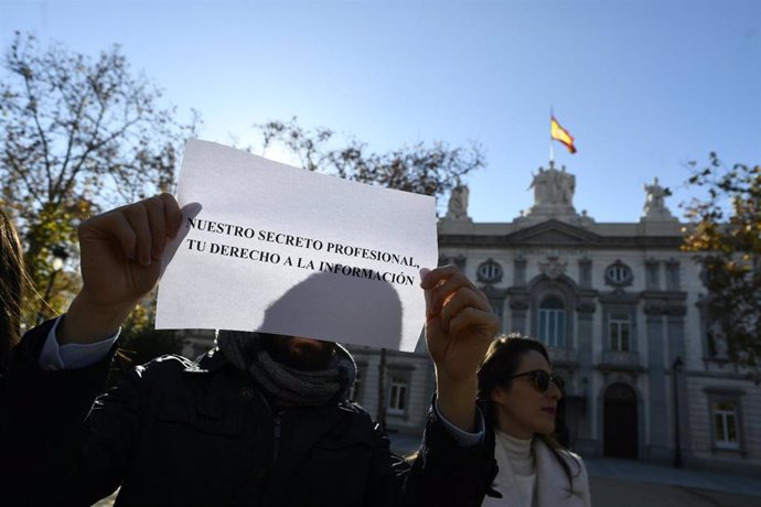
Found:
[{"label": "tree with sparse leaves behind the raised hand at left", "polygon": [[[3,63],[0,201],[14,214],[30,277],[43,293],[52,248],[75,254],[84,217],[171,188],[179,149],[197,117],[179,122],[119,46],[89,57],[61,44],[42,48],[33,35],[17,33]],[[54,295],[57,311],[65,301]]]}]

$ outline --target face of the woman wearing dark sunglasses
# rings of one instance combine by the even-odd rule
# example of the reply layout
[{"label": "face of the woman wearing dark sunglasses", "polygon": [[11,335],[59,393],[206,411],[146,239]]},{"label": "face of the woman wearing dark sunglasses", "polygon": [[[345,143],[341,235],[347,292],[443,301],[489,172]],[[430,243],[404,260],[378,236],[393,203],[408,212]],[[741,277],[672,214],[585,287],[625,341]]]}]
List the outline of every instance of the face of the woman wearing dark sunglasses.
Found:
[{"label": "face of the woman wearing dark sunglasses", "polygon": [[[514,375],[528,371],[545,371],[551,375],[547,359],[536,350],[524,354]],[[562,395],[550,381],[547,390],[540,392],[533,376],[513,378],[508,387],[497,386],[491,399],[496,409],[497,429],[517,439],[528,440],[534,433],[550,434],[555,431],[555,412]]]}]

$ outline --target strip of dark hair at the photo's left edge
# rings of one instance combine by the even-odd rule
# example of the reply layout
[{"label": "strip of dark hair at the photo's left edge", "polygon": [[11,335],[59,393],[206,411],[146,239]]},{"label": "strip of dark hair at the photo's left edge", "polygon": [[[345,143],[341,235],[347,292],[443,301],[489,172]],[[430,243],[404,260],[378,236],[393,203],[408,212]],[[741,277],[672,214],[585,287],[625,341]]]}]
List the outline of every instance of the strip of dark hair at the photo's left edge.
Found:
[{"label": "strip of dark hair at the photo's left edge", "polygon": [[21,332],[21,302],[26,285],[23,248],[8,214],[0,209],[0,373]]}]

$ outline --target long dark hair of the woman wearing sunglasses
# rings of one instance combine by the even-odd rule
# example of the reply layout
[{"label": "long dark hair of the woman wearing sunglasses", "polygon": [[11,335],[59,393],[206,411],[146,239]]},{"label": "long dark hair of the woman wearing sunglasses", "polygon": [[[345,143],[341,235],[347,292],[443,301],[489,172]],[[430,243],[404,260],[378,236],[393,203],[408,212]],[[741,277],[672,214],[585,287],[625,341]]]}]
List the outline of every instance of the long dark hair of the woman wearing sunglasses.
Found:
[{"label": "long dark hair of the woman wearing sunglasses", "polygon": [[[550,364],[549,354],[547,349],[542,344],[533,338],[522,336],[521,334],[513,333],[507,336],[500,336],[494,342],[492,342],[486,352],[486,357],[484,358],[481,367],[479,368],[479,400],[481,406],[485,409],[485,418],[496,428],[496,409],[494,402],[491,399],[492,390],[495,387],[510,387],[513,379],[510,377],[515,375],[521,366],[521,360],[523,356],[529,352],[537,352],[547,359],[547,364]],[[536,433],[535,439],[542,440],[549,449],[550,453],[557,462],[562,467],[562,471],[568,477],[568,486],[570,488],[570,494],[574,493],[574,475],[579,475],[581,473],[581,465],[578,463],[576,457],[571,454],[567,454],[574,460],[577,465],[578,471],[574,474],[568,465],[568,462],[560,455],[560,451],[564,450],[562,445],[558,443],[551,434]]]}]

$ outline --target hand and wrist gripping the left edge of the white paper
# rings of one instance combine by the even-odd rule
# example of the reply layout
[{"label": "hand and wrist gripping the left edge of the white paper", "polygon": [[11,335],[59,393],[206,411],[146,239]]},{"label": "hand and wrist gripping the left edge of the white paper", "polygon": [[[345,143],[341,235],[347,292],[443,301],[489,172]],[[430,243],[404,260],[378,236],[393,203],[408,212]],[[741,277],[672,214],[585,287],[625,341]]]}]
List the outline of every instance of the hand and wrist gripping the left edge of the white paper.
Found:
[{"label": "hand and wrist gripping the left edge of the white paper", "polygon": [[180,206],[170,194],[85,220],[78,230],[83,287],[58,342],[92,343],[112,335],[158,282],[161,256],[181,222]]}]

